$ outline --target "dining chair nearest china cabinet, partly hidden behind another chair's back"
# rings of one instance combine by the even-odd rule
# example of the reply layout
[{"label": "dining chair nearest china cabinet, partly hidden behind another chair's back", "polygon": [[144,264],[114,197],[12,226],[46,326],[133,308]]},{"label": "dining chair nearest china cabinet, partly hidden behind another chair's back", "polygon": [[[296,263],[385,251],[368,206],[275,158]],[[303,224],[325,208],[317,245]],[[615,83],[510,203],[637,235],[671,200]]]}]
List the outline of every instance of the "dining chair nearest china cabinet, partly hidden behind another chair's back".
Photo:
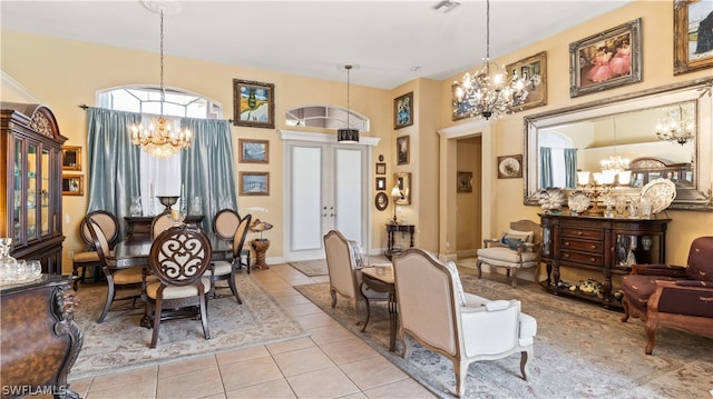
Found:
[{"label": "dining chair nearest china cabinet, partly hidden behind another chair's back", "polygon": [[[89,212],[87,216],[91,216],[104,231],[107,242],[109,243],[109,250],[114,249],[117,239],[119,238],[119,222],[116,217],[105,210],[96,210]],[[96,271],[94,273],[95,279],[99,280],[99,276],[102,276],[101,262],[99,261],[99,255],[95,249],[94,239],[89,232],[89,226],[86,219],[82,219],[79,223],[79,237],[86,245],[86,249],[81,252],[76,252],[71,258],[71,275],[74,277],[72,288],[77,290],[79,281],[85,283],[87,277],[87,269]],[[79,269],[81,269],[81,277],[79,276]]]}]

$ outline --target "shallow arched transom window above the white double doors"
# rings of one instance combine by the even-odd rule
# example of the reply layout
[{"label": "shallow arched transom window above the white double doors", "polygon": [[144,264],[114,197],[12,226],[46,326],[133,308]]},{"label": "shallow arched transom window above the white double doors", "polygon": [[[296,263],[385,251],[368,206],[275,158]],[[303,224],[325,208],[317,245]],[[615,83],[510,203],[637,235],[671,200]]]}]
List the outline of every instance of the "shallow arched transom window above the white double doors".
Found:
[{"label": "shallow arched transom window above the white double doors", "polygon": [[[346,114],[349,113],[349,127],[346,127]],[[346,111],[345,108],[333,106],[302,106],[290,109],[285,112],[286,126],[299,126],[305,128],[324,129],[358,129],[369,131],[369,118],[354,110]]]}]

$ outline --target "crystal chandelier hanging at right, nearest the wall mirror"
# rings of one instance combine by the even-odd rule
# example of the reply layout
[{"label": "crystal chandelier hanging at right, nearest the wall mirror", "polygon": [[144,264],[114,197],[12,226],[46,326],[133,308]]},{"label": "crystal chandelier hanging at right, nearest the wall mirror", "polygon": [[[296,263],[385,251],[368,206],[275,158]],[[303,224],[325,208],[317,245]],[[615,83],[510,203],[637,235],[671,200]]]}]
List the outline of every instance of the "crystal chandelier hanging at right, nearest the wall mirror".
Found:
[{"label": "crystal chandelier hanging at right, nearest the wall mirror", "polygon": [[[507,70],[490,62],[490,0],[486,1],[486,58],[480,71],[466,73],[462,80],[456,81],[453,112],[458,116],[481,116],[499,118],[508,113],[512,107],[520,106],[527,98],[525,79],[517,73],[508,77]],[[494,68],[496,74],[490,76]]]}]

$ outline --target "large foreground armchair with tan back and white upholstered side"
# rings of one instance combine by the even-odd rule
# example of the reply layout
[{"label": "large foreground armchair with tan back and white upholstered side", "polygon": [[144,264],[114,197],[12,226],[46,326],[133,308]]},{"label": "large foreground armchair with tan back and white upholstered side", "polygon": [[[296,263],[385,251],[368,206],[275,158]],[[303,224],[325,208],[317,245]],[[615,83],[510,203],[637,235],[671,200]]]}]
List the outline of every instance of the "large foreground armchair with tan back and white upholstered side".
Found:
[{"label": "large foreground armchair with tan back and white upholstered side", "polygon": [[517,300],[488,300],[460,286],[453,262],[410,248],[394,257],[399,336],[409,335],[423,347],[453,362],[456,393],[462,396],[468,365],[520,352],[520,371],[528,377],[537,320],[520,311]]}]

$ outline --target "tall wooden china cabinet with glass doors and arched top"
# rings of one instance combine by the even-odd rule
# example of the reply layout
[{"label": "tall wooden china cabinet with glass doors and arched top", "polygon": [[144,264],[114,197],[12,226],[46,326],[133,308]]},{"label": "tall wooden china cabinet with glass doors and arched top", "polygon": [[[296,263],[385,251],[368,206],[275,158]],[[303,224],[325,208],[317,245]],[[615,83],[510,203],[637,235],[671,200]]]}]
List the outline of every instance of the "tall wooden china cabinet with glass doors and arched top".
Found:
[{"label": "tall wooden china cabinet with glass doors and arched top", "polygon": [[42,272],[62,271],[62,156],[67,140],[43,104],[0,103],[0,237],[10,256],[39,259]]}]

